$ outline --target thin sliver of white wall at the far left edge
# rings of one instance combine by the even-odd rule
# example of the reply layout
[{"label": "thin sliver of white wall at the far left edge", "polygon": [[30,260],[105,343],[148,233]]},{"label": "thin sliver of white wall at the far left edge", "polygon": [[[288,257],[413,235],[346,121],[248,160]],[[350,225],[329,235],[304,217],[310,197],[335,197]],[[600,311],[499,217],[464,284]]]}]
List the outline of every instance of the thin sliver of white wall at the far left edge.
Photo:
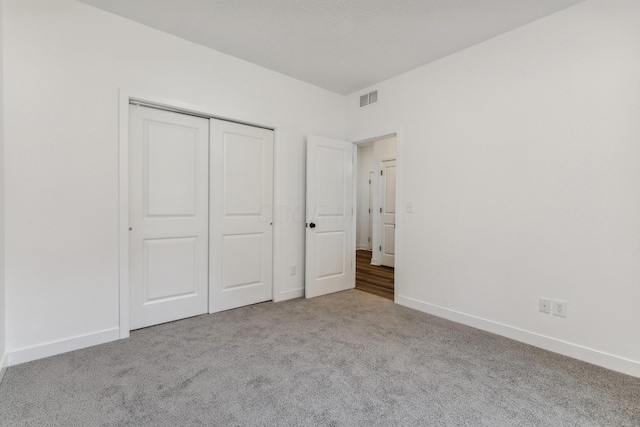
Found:
[{"label": "thin sliver of white wall at the far left edge", "polygon": [[3,5],[0,0],[0,381],[4,376],[6,357],[6,304],[4,285],[4,52],[3,52]]}]

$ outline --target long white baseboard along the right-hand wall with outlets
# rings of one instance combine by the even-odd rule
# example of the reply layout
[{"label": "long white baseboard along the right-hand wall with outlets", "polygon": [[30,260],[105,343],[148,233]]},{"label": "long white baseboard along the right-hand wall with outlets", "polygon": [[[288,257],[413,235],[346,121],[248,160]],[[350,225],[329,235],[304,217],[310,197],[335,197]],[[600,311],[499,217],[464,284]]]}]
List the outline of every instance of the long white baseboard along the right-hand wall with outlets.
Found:
[{"label": "long white baseboard along the right-hand wall with outlets", "polygon": [[540,335],[535,332],[515,328],[513,326],[461,313],[437,305],[428,304],[402,295],[396,295],[395,302],[424,313],[482,329],[484,331],[511,338],[535,347],[543,348],[554,353],[582,360],[583,362],[602,366],[603,368],[611,369],[612,371],[622,372],[623,374],[634,377],[640,377],[640,362],[635,360],[615,356],[613,354],[572,344],[563,340]]}]

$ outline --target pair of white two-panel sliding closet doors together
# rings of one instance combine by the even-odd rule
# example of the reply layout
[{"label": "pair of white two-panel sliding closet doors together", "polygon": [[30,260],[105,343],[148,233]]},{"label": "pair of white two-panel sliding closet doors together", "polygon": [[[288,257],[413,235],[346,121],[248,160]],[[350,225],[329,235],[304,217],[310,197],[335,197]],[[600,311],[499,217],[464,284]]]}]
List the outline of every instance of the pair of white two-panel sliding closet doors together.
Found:
[{"label": "pair of white two-panel sliding closet doors together", "polygon": [[129,329],[271,300],[273,131],[129,107]]}]

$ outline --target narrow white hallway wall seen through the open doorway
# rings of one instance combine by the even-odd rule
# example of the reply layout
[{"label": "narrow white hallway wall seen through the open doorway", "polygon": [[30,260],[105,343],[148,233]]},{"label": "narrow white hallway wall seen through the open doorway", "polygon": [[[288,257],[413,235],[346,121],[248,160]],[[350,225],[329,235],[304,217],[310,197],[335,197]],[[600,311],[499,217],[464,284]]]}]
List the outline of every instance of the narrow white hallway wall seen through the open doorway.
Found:
[{"label": "narrow white hallway wall seen through the open doorway", "polygon": [[358,181],[356,194],[356,246],[371,247],[369,238],[369,174],[373,172],[373,144],[358,147]]}]

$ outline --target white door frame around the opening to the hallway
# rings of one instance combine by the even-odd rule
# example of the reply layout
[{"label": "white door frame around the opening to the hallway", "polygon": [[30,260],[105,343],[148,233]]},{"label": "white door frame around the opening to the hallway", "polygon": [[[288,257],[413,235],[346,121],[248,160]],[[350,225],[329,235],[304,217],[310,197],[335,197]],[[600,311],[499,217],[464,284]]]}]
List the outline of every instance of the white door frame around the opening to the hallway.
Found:
[{"label": "white door frame around the opening to the hallway", "polygon": [[[390,129],[389,132],[376,132],[369,133],[365,131],[364,135],[350,139],[353,141],[353,144],[356,147],[360,144],[365,144],[371,141],[377,141],[379,139],[385,139],[395,136],[396,137],[396,235],[395,235],[395,243],[396,243],[396,254],[395,254],[395,267],[394,267],[394,275],[393,275],[393,284],[394,284],[394,292],[393,299],[394,302],[397,303],[399,298],[402,296],[402,276],[403,276],[403,266],[402,266],[402,229],[404,225],[404,215],[405,211],[399,209],[400,206],[405,205],[404,194],[402,193],[402,128]],[[355,152],[357,153],[357,149]],[[358,163],[357,161],[354,163],[354,176],[358,176]],[[375,171],[374,171],[375,176]],[[356,188],[357,178],[354,178],[354,190]],[[374,189],[375,193],[375,189]],[[375,197],[375,196],[374,196]],[[353,217],[353,227],[355,230],[356,227],[356,216]],[[371,237],[371,243],[373,244],[373,236]],[[356,246],[353,247],[354,257]],[[354,258],[355,259],[355,258]],[[355,265],[355,264],[354,264]]]}]

